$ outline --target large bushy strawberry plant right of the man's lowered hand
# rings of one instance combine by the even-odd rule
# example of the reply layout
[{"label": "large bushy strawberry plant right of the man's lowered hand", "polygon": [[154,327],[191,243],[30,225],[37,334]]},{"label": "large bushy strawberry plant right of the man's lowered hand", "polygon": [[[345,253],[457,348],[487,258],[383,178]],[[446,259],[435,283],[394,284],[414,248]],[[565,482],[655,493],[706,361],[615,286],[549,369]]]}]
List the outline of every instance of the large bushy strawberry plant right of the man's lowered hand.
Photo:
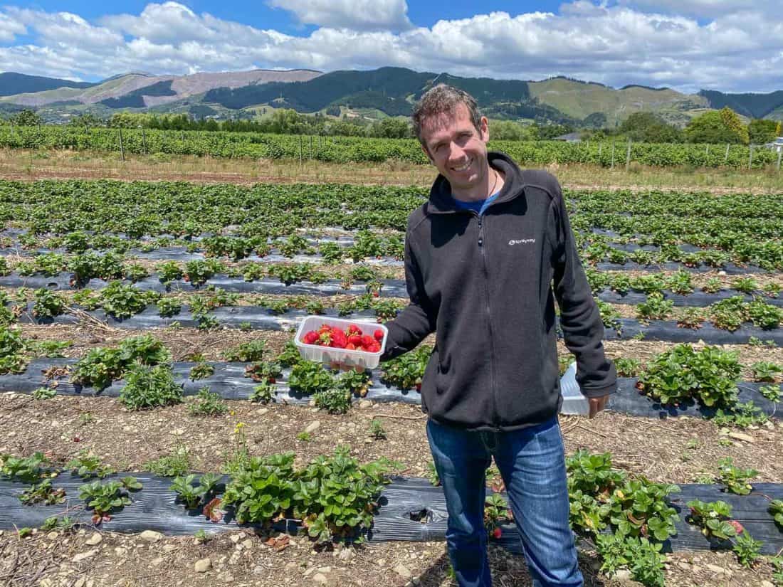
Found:
[{"label": "large bushy strawberry plant right of the man's lowered hand", "polygon": [[741,370],[736,353],[678,344],[648,363],[637,387],[665,405],[695,399],[706,406],[731,407]]}]

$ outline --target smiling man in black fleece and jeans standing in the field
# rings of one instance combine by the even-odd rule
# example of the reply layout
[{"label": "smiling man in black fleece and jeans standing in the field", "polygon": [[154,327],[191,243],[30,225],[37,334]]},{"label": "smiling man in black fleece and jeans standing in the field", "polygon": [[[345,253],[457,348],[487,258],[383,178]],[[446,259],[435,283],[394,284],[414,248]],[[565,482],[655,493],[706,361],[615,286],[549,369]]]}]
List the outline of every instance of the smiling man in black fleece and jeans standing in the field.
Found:
[{"label": "smiling man in black fleece and jeans standing in the field", "polygon": [[591,417],[615,391],[615,369],[604,357],[601,316],[560,186],[547,172],[523,172],[503,153],[488,153],[487,119],[459,89],[431,88],[413,126],[439,175],[408,220],[410,304],[387,324],[383,359],[435,332],[421,402],[457,582],[492,584],[483,512],[494,457],[533,584],[583,585],[557,422],[555,297]]}]

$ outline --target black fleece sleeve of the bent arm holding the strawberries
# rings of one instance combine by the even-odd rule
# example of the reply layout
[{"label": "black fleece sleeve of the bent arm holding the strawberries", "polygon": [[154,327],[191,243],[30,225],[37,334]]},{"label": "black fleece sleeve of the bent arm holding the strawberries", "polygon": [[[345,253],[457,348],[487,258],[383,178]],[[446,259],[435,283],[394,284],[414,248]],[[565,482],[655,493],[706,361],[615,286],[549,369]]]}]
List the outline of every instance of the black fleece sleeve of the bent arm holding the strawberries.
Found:
[{"label": "black fleece sleeve of the bent arm holding the strawberries", "polygon": [[405,238],[405,282],[410,304],[395,319],[384,324],[388,328],[388,339],[381,361],[412,351],[428,334],[435,332],[438,319],[437,309],[424,292],[424,277],[410,247],[409,234]]}]

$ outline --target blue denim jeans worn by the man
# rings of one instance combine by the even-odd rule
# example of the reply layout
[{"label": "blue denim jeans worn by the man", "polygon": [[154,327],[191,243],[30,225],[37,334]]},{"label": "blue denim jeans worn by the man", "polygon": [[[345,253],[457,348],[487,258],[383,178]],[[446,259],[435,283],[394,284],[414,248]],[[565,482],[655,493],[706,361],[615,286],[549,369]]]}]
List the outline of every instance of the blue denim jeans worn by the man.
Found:
[{"label": "blue denim jeans worn by the man", "polygon": [[427,422],[427,438],[446,493],[446,546],[460,587],[491,587],[484,528],[486,469],[506,485],[534,587],[582,587],[568,526],[565,449],[557,416],[512,432],[470,432]]}]

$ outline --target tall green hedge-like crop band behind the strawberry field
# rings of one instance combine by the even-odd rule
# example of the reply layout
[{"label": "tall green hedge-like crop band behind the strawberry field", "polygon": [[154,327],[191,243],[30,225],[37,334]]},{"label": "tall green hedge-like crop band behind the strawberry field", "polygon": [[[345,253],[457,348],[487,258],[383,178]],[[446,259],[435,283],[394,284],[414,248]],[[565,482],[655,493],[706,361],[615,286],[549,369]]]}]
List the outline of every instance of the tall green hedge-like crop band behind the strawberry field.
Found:
[{"label": "tall green hedge-like crop band behind the strawberry field", "polygon": [[[0,126],[0,146],[12,149],[76,149],[122,153],[168,153],[254,159],[333,162],[403,160],[428,163],[413,139],[364,139],[263,135],[253,132],[160,131],[152,129]],[[775,166],[778,153],[742,145],[630,142],[493,141],[490,149],[520,164],[590,163],[615,167],[633,163],[667,167],[761,168]]]}]

